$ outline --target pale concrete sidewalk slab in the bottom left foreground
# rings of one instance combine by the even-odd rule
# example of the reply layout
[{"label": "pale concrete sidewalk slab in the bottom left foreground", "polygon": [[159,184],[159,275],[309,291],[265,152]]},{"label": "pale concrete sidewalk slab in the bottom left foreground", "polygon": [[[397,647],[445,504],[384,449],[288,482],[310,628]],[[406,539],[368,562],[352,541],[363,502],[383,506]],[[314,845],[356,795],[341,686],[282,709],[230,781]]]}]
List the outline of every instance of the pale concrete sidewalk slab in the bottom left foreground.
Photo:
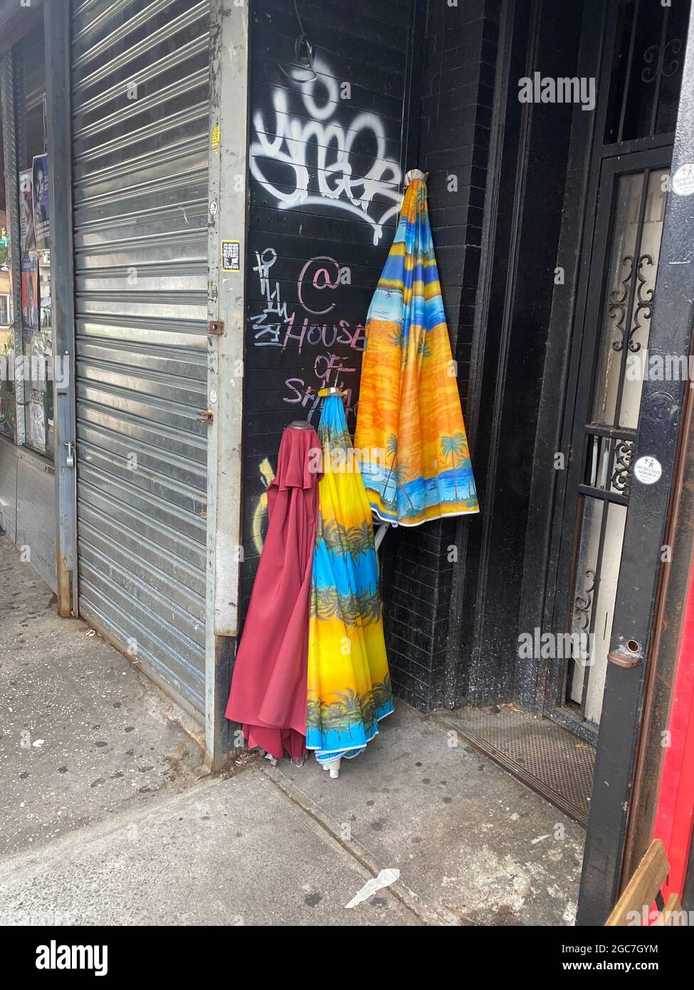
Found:
[{"label": "pale concrete sidewalk slab in the bottom left foreground", "polygon": [[263,773],[162,798],[136,815],[0,862],[2,925],[419,925]]}]

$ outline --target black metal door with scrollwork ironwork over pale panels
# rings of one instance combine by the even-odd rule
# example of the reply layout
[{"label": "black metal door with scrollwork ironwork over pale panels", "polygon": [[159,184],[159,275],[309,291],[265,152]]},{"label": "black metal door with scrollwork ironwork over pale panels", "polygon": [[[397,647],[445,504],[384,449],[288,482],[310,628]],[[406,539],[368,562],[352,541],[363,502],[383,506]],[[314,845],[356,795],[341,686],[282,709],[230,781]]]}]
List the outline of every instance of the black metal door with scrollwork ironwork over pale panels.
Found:
[{"label": "black metal door with scrollwork ironwork over pale panels", "polygon": [[603,160],[585,309],[574,331],[580,355],[545,712],[591,742],[601,721],[669,160],[669,148]]}]

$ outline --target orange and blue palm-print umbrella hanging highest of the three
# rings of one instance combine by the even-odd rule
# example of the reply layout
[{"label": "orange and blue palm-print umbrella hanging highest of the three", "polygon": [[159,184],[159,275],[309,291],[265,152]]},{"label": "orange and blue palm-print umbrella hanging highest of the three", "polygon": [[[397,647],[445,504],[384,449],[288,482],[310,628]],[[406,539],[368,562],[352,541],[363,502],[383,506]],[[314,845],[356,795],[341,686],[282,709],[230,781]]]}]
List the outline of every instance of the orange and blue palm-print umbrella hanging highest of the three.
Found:
[{"label": "orange and blue palm-print umbrella hanging highest of the three", "polygon": [[371,509],[402,526],[479,512],[427,184],[414,174],[368,310],[354,435]]}]

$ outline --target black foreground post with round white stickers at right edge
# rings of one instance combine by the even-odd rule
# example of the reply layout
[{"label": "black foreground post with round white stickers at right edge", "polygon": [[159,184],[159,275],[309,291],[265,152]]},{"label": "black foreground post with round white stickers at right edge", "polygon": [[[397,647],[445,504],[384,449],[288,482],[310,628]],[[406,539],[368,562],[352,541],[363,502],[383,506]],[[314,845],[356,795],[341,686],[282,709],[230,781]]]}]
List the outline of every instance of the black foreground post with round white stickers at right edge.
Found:
[{"label": "black foreground post with round white stickers at right edge", "polygon": [[[694,18],[690,17],[681,92],[694,91]],[[694,106],[680,100],[671,175],[694,163]],[[651,353],[691,352],[694,320],[694,196],[670,191],[665,208],[657,304],[650,325]],[[686,381],[644,381],[633,462],[656,457],[662,474],[654,484],[633,479],[613,622],[611,650],[631,651],[631,667],[609,664],[598,736],[577,924],[603,925],[619,896],[622,863],[643,716],[644,681],[653,662],[652,617],[662,573],[661,549],[670,513]],[[627,587],[628,586],[628,587]]]}]

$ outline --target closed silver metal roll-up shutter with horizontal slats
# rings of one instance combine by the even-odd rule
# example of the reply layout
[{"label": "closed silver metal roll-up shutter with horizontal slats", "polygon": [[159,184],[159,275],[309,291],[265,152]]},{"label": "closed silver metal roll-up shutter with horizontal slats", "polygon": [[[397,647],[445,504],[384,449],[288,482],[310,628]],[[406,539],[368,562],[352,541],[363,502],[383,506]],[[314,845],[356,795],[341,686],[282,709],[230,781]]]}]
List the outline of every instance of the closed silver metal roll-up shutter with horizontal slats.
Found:
[{"label": "closed silver metal roll-up shutter with horizontal slats", "polygon": [[204,712],[207,0],[72,6],[79,609]]}]

